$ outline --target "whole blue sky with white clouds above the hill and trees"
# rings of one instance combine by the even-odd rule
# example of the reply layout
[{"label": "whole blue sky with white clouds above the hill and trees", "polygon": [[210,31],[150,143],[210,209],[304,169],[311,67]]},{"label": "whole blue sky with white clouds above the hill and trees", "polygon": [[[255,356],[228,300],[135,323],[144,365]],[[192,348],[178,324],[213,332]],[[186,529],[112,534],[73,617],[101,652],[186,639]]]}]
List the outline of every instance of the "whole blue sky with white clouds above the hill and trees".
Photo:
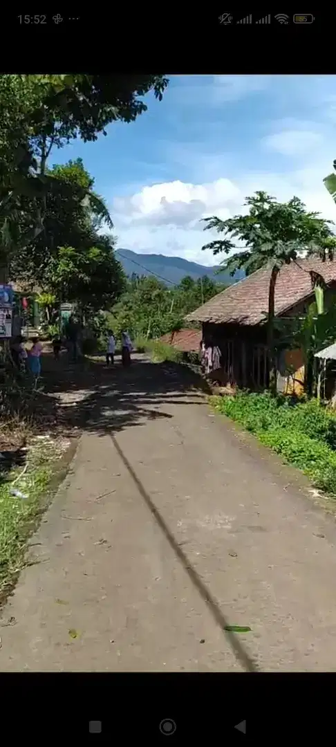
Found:
[{"label": "whole blue sky with white clouds above the hill and trees", "polygon": [[258,189],[336,222],[322,182],[336,158],[335,75],[175,75],[146,103],[136,122],[50,159],[83,158],[119,247],[214,264],[200,220],[244,211]]}]

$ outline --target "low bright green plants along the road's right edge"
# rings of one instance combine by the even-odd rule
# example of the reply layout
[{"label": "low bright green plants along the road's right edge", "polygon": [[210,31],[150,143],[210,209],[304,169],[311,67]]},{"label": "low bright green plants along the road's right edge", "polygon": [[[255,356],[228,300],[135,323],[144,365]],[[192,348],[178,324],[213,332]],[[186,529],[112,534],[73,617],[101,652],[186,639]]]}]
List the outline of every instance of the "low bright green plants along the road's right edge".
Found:
[{"label": "low bright green plants along the road's right edge", "polygon": [[268,393],[238,392],[211,402],[217,412],[301,469],[317,488],[336,497],[336,417],[317,400],[300,403]]}]

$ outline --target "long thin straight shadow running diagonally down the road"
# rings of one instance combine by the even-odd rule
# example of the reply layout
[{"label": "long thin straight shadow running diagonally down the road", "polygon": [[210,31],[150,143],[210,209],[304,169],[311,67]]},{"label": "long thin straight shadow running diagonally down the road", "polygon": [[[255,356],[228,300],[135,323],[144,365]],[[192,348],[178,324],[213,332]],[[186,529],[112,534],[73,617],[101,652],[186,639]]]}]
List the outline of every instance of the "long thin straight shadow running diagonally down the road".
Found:
[{"label": "long thin straight shadow running diagonally down the road", "polygon": [[220,626],[220,629],[225,634],[225,638],[228,639],[228,643],[231,646],[232,651],[234,652],[234,655],[238,661],[240,661],[240,664],[242,664],[243,668],[246,670],[246,672],[258,672],[258,667],[256,666],[255,662],[252,660],[251,657],[249,657],[249,654],[243,647],[243,645],[240,643],[240,641],[237,639],[237,636],[230,630],[225,630],[226,627],[229,626],[228,621],[225,619],[225,616],[223,615],[222,611],[220,610],[219,604],[217,600],[211,595],[211,592],[207,589],[207,586],[205,586],[205,583],[203,583],[202,579],[199,577],[199,574],[193,568],[192,565],[190,565],[189,560],[187,559],[187,555],[184,554],[184,551],[181,549],[181,546],[178,545],[178,542],[176,541],[174,535],[169,530],[169,527],[167,527],[166,522],[164,521],[164,518],[161,516],[161,513],[155,506],[155,504],[152,501],[152,498],[150,498],[150,495],[146,492],[146,489],[143,487],[143,483],[140,482],[139,477],[137,477],[137,474],[135,474],[134,469],[131,467],[130,463],[128,462],[127,457],[123,453],[122,449],[119,447],[118,441],[116,441],[116,437],[113,433],[110,433],[111,440],[113,442],[113,446],[116,448],[116,451],[118,452],[120,459],[122,459],[122,462],[125,465],[125,468],[127,469],[128,473],[131,475],[131,478],[135,485],[137,486],[138,491],[140,492],[141,497],[146,503],[146,506],[148,506],[150,512],[155,518],[155,521],[157,522],[158,526],[164,533],[164,536],[169,542],[170,547],[174,551],[175,555],[178,557],[178,560],[181,562],[181,565],[183,566],[184,570],[187,571],[187,574],[193,583],[193,586],[197,589],[199,592],[199,595],[202,597],[203,601],[205,601],[206,604],[208,604],[208,609],[211,611],[211,614],[217,623],[217,625]]}]

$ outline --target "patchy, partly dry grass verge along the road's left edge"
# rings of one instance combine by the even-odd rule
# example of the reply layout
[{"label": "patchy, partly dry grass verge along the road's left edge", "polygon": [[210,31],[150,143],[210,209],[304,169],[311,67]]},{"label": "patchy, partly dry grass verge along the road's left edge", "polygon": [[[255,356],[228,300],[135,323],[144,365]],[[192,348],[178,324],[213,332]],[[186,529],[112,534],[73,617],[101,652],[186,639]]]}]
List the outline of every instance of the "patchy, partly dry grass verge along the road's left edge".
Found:
[{"label": "patchy, partly dry grass verge along the road's left edge", "polygon": [[[0,604],[30,564],[28,539],[65,476],[74,446],[65,439],[34,438],[24,468],[0,476]],[[14,490],[24,497],[13,495]]]}]

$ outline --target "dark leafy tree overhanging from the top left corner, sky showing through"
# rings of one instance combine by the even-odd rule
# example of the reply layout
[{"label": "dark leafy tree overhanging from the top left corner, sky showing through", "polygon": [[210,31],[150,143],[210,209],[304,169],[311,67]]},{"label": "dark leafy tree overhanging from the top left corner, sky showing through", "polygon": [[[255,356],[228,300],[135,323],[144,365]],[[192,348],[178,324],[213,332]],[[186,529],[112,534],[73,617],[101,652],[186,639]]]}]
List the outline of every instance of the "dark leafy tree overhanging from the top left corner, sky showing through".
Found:
[{"label": "dark leafy tree overhanging from the top left corner, sky showing through", "polygon": [[146,111],[143,96],[161,99],[167,83],[163,75],[0,75],[0,279],[8,257],[43,231],[46,193],[59,186],[46,174],[52,146],[134,121]]}]

